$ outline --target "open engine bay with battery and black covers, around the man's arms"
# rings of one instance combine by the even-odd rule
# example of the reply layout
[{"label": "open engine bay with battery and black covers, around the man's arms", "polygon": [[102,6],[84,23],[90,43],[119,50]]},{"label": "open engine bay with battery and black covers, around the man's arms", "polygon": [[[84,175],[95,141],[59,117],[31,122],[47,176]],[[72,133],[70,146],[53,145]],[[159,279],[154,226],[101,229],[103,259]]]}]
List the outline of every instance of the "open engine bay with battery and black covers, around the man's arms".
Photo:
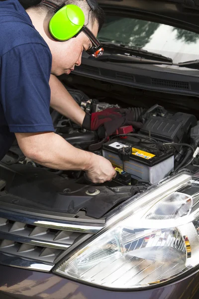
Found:
[{"label": "open engine bay with battery and black covers, around the man's arms", "polygon": [[[87,113],[120,108],[120,103],[95,99],[66,87]],[[51,117],[55,133],[74,147],[90,150],[110,160],[115,179],[94,184],[84,171],[46,168],[27,159],[14,143],[0,162],[0,202],[17,210],[42,211],[47,215],[71,215],[79,219],[102,219],[114,207],[167,176],[199,164],[199,122],[193,114],[127,106],[142,128],[118,128],[100,147],[104,136],[82,129],[55,110]]]}]

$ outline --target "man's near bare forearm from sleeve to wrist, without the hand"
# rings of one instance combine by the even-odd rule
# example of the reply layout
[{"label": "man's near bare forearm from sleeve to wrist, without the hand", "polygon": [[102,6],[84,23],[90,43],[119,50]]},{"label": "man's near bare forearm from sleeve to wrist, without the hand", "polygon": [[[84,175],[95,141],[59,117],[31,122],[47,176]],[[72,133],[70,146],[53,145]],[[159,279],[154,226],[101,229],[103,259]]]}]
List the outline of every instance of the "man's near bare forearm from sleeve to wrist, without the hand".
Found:
[{"label": "man's near bare forearm from sleeve to wrist, without the hand", "polygon": [[93,153],[76,149],[54,133],[16,133],[20,149],[35,162],[60,170],[87,170]]}]

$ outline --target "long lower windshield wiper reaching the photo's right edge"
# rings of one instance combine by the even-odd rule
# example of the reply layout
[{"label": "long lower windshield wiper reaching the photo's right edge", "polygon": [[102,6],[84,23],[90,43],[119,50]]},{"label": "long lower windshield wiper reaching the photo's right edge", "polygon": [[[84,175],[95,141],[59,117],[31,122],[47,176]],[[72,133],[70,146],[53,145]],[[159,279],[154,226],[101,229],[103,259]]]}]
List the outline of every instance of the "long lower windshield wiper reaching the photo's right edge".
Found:
[{"label": "long lower windshield wiper reaching the photo's right edge", "polygon": [[115,63],[132,63],[132,64],[156,64],[156,65],[175,65],[179,67],[186,67],[191,69],[199,70],[199,59],[197,60],[190,60],[185,62],[168,62],[168,61],[158,61],[158,60],[151,60],[151,59],[143,59],[133,56],[125,56],[125,55],[103,55],[97,58],[97,60],[103,62],[115,62]]}]

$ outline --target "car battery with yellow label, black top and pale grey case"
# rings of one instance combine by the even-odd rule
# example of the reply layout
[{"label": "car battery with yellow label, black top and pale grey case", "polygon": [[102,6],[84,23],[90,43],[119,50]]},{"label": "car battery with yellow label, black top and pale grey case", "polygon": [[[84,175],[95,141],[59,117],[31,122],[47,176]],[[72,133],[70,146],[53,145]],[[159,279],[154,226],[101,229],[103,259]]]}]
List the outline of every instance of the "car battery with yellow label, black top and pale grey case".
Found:
[{"label": "car battery with yellow label, black top and pale grey case", "polygon": [[[121,150],[128,152],[127,160],[122,160]],[[137,180],[148,180],[154,184],[174,170],[173,150],[157,149],[154,144],[140,143],[128,137],[125,141],[115,138],[102,146],[102,155],[114,167],[131,174]]]}]

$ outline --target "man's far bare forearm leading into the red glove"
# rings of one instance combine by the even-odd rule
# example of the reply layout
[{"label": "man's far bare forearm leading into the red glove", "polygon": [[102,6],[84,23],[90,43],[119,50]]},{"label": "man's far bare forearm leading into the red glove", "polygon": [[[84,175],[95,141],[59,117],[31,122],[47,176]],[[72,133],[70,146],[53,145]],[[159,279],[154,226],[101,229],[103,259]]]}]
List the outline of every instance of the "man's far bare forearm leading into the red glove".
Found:
[{"label": "man's far bare forearm leading into the red glove", "polygon": [[76,103],[59,79],[51,75],[49,85],[51,88],[50,106],[74,123],[82,126],[85,112]]}]

